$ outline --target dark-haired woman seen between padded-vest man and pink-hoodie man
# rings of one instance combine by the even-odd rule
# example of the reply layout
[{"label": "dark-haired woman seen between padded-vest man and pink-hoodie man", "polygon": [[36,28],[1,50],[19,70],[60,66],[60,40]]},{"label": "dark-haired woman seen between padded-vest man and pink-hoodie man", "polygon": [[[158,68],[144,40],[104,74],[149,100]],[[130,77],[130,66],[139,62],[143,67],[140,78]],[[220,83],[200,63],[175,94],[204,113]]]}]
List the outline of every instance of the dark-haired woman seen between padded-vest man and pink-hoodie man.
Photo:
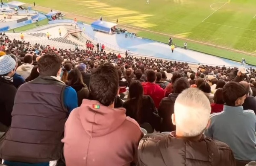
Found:
[{"label": "dark-haired woman seen between padded-vest man and pink-hoodie man", "polygon": [[82,81],[82,74],[78,69],[71,70],[68,74],[68,86],[73,87],[77,92],[77,105],[80,107],[83,99],[88,99],[90,96],[90,92],[88,87]]}]

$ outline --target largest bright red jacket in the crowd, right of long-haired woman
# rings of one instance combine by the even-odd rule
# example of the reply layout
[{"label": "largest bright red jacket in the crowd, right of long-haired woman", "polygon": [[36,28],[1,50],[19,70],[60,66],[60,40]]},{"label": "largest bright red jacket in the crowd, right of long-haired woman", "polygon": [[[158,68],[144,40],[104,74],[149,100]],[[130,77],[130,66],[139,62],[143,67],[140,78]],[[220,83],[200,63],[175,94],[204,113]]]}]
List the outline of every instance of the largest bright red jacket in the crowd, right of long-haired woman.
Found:
[{"label": "largest bright red jacket in the crowd, right of long-haired woman", "polygon": [[153,84],[151,82],[142,82],[141,84],[144,90],[144,95],[150,96],[153,99],[156,108],[158,108],[162,98],[165,97],[165,92],[162,87],[160,87],[159,84]]}]

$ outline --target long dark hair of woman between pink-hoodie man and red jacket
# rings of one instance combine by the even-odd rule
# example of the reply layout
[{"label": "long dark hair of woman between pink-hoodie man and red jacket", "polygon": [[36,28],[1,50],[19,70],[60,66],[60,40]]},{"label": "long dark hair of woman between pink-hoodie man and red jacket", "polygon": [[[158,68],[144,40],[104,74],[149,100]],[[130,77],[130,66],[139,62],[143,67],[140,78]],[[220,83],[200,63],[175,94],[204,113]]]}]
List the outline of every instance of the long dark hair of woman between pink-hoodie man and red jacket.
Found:
[{"label": "long dark hair of woman between pink-hoodie man and red jacket", "polygon": [[129,95],[128,95],[128,101],[133,99],[133,103],[131,105],[132,110],[136,111],[133,112],[135,115],[135,119],[137,120],[138,123],[141,122],[141,114],[142,114],[142,99],[143,99],[143,87],[141,85],[141,82],[138,80],[133,80],[130,83],[129,86]]}]

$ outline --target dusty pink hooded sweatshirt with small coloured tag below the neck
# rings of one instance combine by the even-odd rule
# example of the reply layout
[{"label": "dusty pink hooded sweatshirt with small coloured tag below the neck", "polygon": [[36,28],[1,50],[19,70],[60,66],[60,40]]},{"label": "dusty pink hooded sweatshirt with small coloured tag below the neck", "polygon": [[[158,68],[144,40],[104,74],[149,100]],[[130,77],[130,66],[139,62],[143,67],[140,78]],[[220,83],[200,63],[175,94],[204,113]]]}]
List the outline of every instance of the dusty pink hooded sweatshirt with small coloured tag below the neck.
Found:
[{"label": "dusty pink hooded sweatshirt with small coloured tag below the neck", "polygon": [[124,108],[109,108],[84,99],[65,123],[66,166],[130,166],[137,162],[143,137],[138,123]]}]

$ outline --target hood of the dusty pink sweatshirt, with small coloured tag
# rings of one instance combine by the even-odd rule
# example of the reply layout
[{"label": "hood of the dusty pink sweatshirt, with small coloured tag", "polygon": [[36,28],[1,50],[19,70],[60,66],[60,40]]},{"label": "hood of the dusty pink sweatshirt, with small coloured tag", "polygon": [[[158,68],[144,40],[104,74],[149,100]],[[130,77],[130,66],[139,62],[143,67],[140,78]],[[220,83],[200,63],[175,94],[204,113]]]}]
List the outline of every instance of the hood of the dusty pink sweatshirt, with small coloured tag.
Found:
[{"label": "hood of the dusty pink sweatshirt, with small coloured tag", "polygon": [[101,137],[115,131],[126,119],[124,108],[109,108],[95,100],[83,99],[77,109],[78,120],[91,137]]}]

